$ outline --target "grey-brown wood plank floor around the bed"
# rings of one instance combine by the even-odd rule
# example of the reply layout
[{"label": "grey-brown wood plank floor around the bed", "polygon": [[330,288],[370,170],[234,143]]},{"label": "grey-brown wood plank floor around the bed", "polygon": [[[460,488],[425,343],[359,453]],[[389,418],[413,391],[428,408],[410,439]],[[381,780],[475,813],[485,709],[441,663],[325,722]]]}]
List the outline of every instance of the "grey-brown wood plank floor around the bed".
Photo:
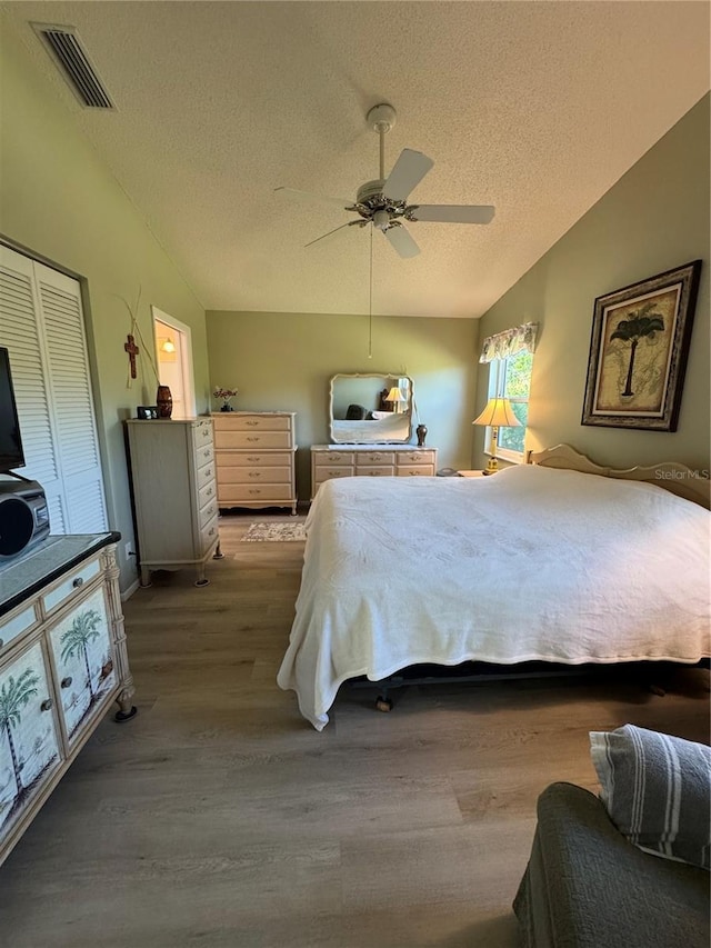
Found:
[{"label": "grey-brown wood plank floor around the bed", "polygon": [[210,586],[126,603],[138,716],[102,722],[0,868],[11,948],[503,948],[538,794],[595,788],[588,731],[708,740],[708,673],[339,695],[317,734],[276,685],[303,543],[240,542]]}]

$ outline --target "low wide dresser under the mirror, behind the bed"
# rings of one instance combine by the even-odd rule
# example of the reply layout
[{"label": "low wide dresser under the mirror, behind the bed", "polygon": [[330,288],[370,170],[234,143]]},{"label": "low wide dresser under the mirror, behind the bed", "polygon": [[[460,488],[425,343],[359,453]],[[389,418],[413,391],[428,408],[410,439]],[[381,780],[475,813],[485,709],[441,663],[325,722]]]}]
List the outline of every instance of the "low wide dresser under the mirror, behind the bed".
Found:
[{"label": "low wide dresser under the mirror, behind the bed", "polygon": [[312,445],[311,499],[337,477],[434,477],[437,448],[412,445]]}]

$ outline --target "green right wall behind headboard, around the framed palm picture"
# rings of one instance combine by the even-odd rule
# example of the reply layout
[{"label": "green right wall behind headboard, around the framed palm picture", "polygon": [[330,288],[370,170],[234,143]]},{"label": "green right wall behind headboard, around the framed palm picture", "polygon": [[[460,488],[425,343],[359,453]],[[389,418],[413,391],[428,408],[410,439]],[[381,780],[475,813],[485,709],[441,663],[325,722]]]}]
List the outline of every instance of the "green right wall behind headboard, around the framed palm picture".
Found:
[{"label": "green right wall behind headboard, around the framed palm picture", "polygon": [[[480,336],[539,321],[527,447],[561,441],[615,467],[709,468],[709,104],[705,96],[481,319]],[[581,426],[594,300],[701,259],[701,285],[675,432]],[[488,373],[478,380],[483,406]],[[475,466],[483,435],[475,436]]]}]

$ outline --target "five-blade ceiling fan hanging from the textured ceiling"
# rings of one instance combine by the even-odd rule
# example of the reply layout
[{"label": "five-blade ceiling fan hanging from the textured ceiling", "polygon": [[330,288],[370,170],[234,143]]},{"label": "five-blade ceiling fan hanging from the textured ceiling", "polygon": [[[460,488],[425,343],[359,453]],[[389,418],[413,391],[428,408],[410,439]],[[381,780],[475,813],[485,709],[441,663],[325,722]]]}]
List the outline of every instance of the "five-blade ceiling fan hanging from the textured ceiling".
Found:
[{"label": "five-blade ceiling fan hanging from the textured ceiling", "polygon": [[439,221],[441,223],[489,223],[494,216],[490,204],[409,204],[408,197],[417,188],[434,162],[421,151],[405,148],[401,151],[390,174],[385,178],[385,134],[395,123],[395,110],[387,102],[374,106],[365,117],[368,124],[380,137],[380,177],[367,181],[358,189],[354,201],[346,198],[330,198],[297,191],[293,188],[276,188],[274,193],[288,198],[302,198],[309,201],[328,201],[339,204],[343,210],[358,214],[327,233],[307,243],[311,247],[346,227],[365,227],[372,223],[390,241],[400,257],[417,257],[420,248],[404,226],[404,221]]}]

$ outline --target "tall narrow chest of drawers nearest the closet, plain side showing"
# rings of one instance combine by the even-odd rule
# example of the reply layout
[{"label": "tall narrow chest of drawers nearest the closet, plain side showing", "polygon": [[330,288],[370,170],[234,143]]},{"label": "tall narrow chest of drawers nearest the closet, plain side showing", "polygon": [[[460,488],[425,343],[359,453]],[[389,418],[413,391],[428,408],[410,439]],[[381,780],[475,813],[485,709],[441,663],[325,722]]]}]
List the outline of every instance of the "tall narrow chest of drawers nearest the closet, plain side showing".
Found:
[{"label": "tall narrow chest of drawers nearest the closet, plain side showing", "polygon": [[141,586],[153,569],[196,569],[220,559],[212,420],[127,421]]}]

